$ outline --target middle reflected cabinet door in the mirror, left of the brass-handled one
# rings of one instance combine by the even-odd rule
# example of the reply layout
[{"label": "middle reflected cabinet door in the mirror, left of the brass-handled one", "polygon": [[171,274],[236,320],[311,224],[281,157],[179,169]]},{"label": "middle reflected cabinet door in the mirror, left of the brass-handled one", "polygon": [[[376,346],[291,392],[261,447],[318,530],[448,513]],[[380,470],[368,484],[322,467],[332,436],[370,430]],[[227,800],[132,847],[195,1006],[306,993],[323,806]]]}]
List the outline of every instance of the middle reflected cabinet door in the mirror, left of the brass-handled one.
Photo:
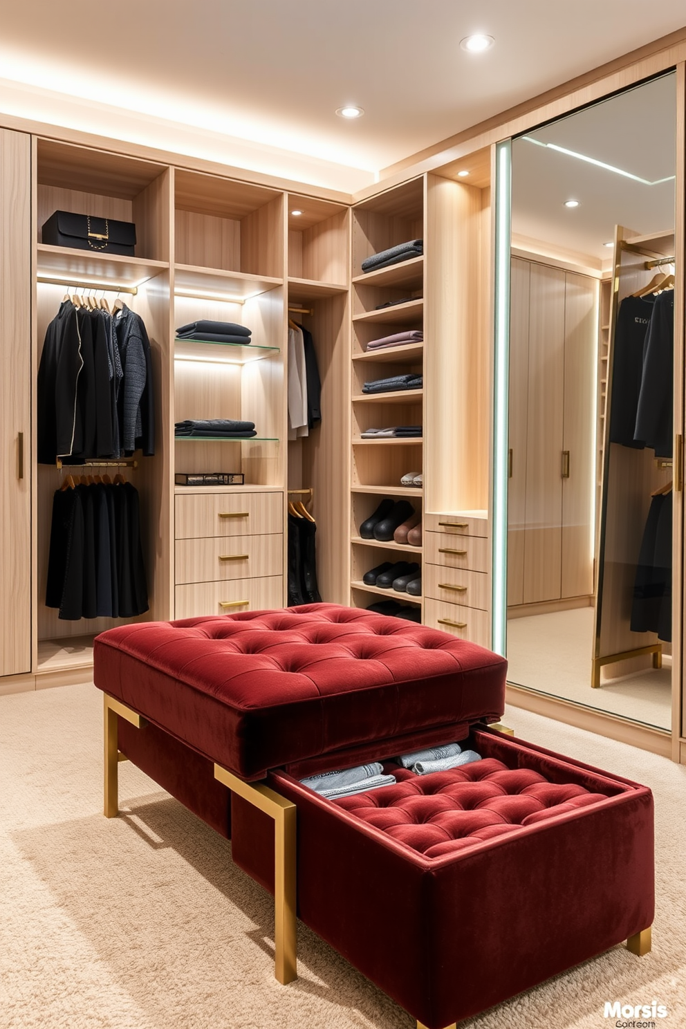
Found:
[{"label": "middle reflected cabinet door in the mirror, left of the brass-handled one", "polygon": [[562,562],[562,451],[565,273],[531,265],[523,603],[558,600]]}]

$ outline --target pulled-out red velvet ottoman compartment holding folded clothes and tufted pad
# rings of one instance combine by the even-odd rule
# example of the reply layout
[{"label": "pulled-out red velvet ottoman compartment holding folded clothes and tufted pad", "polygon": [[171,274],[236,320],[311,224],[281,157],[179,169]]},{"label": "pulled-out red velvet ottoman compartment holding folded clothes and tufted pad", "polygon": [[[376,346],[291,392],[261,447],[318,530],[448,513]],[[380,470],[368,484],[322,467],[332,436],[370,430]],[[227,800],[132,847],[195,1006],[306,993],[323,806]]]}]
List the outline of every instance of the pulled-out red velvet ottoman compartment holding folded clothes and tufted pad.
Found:
[{"label": "pulled-out red velvet ottoman compartment holding folded clothes and tufted pad", "polygon": [[[429,1029],[619,944],[653,919],[650,790],[489,730],[482,760],[297,806],[298,915]],[[298,775],[306,775],[306,767]],[[270,826],[232,797],[233,860],[267,888]]]}]

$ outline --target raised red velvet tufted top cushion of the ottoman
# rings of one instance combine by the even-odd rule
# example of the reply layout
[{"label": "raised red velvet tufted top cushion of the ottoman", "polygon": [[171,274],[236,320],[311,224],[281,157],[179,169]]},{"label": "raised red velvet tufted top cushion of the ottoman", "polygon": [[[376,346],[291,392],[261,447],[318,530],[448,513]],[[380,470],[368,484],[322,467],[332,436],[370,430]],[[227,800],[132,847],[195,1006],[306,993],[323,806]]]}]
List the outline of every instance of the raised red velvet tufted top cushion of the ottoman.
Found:
[{"label": "raised red velvet tufted top cushion of the ottoman", "polygon": [[245,779],[354,765],[497,721],[507,662],[337,604],[152,622],[96,638],[100,689]]}]

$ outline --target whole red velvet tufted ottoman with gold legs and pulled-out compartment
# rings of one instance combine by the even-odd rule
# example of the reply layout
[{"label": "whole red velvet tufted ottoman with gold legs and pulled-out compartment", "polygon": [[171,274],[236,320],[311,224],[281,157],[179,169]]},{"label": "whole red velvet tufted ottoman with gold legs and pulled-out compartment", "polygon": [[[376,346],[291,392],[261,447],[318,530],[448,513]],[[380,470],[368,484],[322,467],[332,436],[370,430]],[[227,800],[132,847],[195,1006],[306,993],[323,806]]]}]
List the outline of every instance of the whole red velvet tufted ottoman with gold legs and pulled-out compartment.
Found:
[{"label": "whole red velvet tufted ottoman with gold legs and pulled-out compartment", "polygon": [[[106,814],[128,756],[275,891],[282,982],[297,879],[299,917],[442,1029],[629,936],[645,949],[652,921],[650,792],[485,729],[505,671],[330,604],[109,630],[94,671]],[[396,769],[395,786],[335,803],[298,782],[470,731],[488,759],[449,773]]]}]

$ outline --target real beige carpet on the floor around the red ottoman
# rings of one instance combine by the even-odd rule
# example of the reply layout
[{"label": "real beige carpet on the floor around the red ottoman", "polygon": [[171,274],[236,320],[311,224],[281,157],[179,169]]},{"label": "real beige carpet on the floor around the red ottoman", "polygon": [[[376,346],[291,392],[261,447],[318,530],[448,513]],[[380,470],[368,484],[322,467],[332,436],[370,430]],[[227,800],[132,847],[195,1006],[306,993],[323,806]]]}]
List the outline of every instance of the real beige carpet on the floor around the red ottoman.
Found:
[{"label": "real beige carpet on the floor around the red ottoman", "polygon": [[[301,925],[300,978],[280,986],[270,898],[231,865],[225,841],[128,762],[129,813],[103,818],[101,711],[87,685],[0,698],[0,1026],[411,1029],[405,1012]],[[657,1024],[681,1029],[686,768],[517,709],[507,720],[522,738],[654,789],[653,952],[639,959],[615,948],[464,1025],[602,1029],[614,1025],[606,1000],[656,999],[670,1008]],[[602,873],[588,854],[588,875]],[[367,931],[380,947],[398,946],[383,927]]]}]

